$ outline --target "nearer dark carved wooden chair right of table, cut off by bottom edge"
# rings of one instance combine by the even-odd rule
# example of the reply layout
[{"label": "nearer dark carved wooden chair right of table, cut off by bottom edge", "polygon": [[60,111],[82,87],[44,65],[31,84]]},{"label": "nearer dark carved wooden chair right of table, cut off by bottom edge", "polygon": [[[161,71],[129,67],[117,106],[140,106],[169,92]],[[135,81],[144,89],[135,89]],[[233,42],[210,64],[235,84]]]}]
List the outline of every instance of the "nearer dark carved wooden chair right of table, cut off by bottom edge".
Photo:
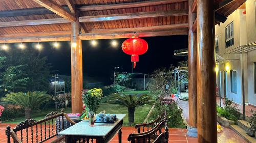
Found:
[{"label": "nearer dark carved wooden chair right of table, cut off by bottom edge", "polygon": [[[167,117],[166,113],[165,118],[160,120],[156,126],[154,126],[151,130],[141,132],[141,133],[132,133],[128,137],[128,141],[132,143],[151,143],[151,142],[168,142],[168,127],[167,127]],[[164,131],[164,132],[163,132]]]}]

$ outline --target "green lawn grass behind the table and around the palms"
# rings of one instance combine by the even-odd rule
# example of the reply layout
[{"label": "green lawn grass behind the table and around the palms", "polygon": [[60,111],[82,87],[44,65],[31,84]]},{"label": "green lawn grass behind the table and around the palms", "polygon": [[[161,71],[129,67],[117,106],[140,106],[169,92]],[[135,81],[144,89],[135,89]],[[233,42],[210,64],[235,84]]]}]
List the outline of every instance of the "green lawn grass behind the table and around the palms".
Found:
[{"label": "green lawn grass behind the table and around the palms", "polygon": [[[126,94],[130,93],[130,94],[146,94],[148,93],[148,91],[129,91],[129,92],[125,92]],[[106,97],[103,97],[101,99],[101,104],[100,104],[100,107],[98,109],[98,112],[99,111],[102,111],[102,110],[105,110],[106,113],[122,113],[122,114],[126,114],[125,118],[123,119],[123,122],[124,122],[124,125],[128,125],[128,109],[124,106],[120,106],[118,104],[110,104],[110,103],[106,103],[106,101],[108,101],[110,98],[114,98],[114,95],[115,94],[112,94],[110,96],[106,96]],[[147,116],[147,113],[150,111],[152,105],[143,105],[143,106],[140,106],[140,107],[136,107],[135,108],[135,123],[142,123],[146,116]],[[41,111],[34,111],[31,115],[31,118],[32,119],[35,119],[36,121],[38,120],[41,120],[41,119],[44,119],[45,116],[50,113],[51,111],[58,111],[60,112],[61,109],[59,110],[55,110],[55,109],[45,109],[45,110],[41,110]],[[71,112],[71,108],[65,108],[64,109],[64,112],[66,113],[70,113]],[[18,124],[19,122],[22,122],[24,121],[25,118],[16,118],[16,119],[13,119],[13,120],[9,120],[9,121],[6,121],[6,122],[3,122],[3,123],[8,123],[8,124]]]}]

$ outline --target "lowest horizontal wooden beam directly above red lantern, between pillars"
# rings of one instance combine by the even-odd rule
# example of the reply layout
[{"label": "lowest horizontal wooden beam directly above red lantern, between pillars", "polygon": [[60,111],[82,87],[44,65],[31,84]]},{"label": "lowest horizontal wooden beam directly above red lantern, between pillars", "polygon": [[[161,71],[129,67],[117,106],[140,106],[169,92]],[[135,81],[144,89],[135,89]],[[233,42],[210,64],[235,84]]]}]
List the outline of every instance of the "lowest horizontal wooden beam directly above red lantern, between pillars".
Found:
[{"label": "lowest horizontal wooden beam directly above red lantern, between pillars", "polygon": [[[187,35],[188,30],[173,30],[173,31],[158,31],[158,32],[140,32],[139,37],[156,37],[156,36],[172,36],[172,35]],[[113,39],[113,35],[115,35],[115,39],[120,38],[131,38],[133,33],[88,33],[88,34],[80,34],[79,37],[82,40],[92,40],[92,39]]]}]

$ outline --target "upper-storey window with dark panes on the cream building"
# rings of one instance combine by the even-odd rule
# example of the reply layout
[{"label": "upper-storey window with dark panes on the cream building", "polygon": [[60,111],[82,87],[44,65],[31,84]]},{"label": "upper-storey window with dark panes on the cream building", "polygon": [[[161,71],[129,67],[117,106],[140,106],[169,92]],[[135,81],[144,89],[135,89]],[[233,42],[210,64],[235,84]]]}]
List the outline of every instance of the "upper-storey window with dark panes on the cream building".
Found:
[{"label": "upper-storey window with dark panes on the cream building", "polygon": [[226,48],[234,44],[233,21],[225,27]]}]

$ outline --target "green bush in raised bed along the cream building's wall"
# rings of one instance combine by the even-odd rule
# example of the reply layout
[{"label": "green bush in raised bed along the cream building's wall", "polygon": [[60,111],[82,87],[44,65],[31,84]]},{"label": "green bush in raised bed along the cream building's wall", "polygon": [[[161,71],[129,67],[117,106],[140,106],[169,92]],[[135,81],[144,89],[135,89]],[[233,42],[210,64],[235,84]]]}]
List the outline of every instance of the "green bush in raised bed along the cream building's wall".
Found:
[{"label": "green bush in raised bed along the cream building's wall", "polygon": [[226,99],[225,100],[225,106],[219,107],[217,106],[217,113],[221,117],[225,117],[228,120],[232,120],[235,123],[237,123],[239,117],[240,117],[240,109],[238,109],[238,106],[233,103],[232,100]]}]

